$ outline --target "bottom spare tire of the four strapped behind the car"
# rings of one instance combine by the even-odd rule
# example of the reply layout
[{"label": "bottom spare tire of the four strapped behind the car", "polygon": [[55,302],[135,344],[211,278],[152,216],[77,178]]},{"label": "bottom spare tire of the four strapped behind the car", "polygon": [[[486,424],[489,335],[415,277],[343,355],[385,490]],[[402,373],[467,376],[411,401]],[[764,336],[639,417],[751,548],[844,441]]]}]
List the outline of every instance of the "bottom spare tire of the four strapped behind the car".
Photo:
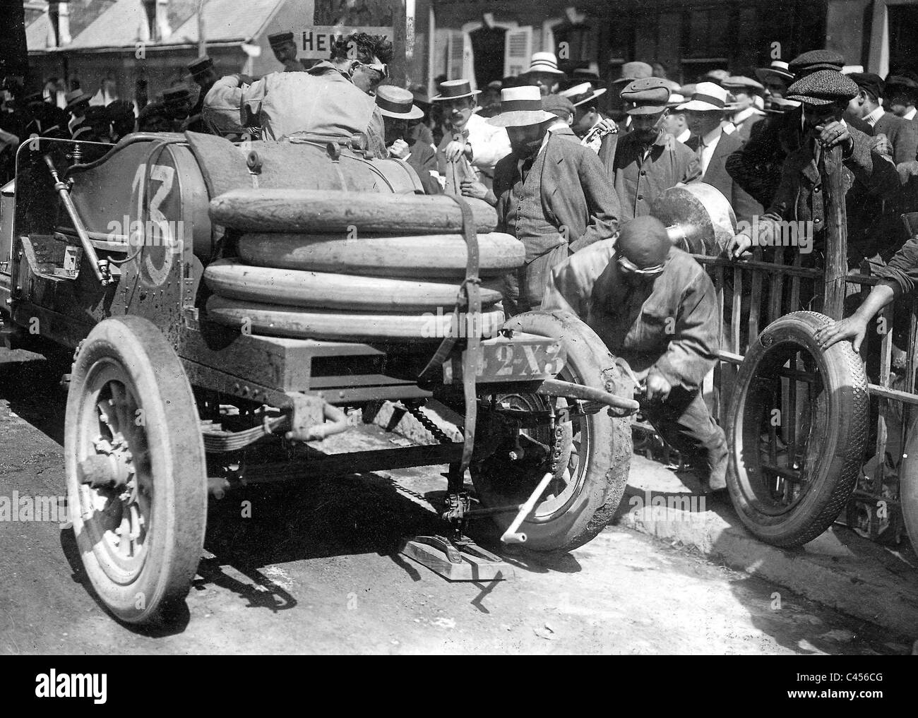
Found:
[{"label": "bottom spare tire of the four strapped behind the car", "polygon": [[[373,314],[303,309],[214,295],[207,299],[207,317],[220,324],[247,328],[253,334],[341,342],[435,342],[452,331],[453,307],[422,314]],[[479,318],[469,319],[471,329],[464,323],[456,331],[458,336],[465,336],[466,331],[480,331],[482,337],[490,337],[498,332],[503,322],[503,309],[487,309],[482,311]]]}]

